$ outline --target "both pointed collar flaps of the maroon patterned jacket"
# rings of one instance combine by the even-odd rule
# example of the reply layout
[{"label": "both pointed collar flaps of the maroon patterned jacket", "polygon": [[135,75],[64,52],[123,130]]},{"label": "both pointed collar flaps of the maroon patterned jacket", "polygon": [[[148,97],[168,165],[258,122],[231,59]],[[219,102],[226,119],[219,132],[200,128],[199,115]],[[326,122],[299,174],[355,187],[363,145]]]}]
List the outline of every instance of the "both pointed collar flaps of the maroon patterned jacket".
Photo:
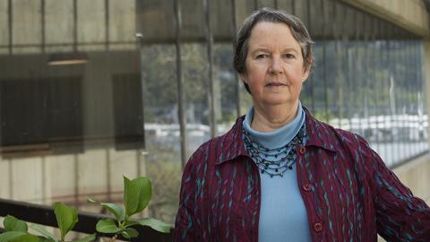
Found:
[{"label": "both pointed collar flaps of the maroon patterned jacket", "polygon": [[[315,146],[327,151],[338,151],[339,141],[335,139],[333,128],[315,119],[311,113],[305,110],[306,132],[309,134],[309,140],[305,146]],[[222,164],[228,160],[234,160],[239,156],[250,157],[245,150],[244,140],[242,137],[242,126],[245,116],[238,117],[235,125],[227,134],[221,136],[220,155],[216,164]]]}]

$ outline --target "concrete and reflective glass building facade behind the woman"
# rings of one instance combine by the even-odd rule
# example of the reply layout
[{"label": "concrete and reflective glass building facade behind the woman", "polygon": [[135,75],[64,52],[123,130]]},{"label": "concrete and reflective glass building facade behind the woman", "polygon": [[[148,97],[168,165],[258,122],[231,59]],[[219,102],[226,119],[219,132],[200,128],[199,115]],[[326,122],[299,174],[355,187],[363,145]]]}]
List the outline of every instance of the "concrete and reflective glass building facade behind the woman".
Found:
[{"label": "concrete and reflective glass building facade behind the woman", "polygon": [[98,212],[86,197],[118,202],[123,175],[147,176],[147,213],[173,223],[186,160],[251,107],[232,42],[264,6],[314,39],[305,107],[428,177],[427,1],[1,0],[0,197]]}]

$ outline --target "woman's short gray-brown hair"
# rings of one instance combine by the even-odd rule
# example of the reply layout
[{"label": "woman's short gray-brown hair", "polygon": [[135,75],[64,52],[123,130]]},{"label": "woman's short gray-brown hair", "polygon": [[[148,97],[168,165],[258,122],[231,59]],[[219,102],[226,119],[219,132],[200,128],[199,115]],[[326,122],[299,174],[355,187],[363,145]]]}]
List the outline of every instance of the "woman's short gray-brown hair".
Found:
[{"label": "woman's short gray-brown hair", "polygon": [[[237,31],[235,41],[235,57],[233,59],[233,65],[235,67],[236,73],[246,73],[245,62],[246,56],[248,55],[249,37],[251,36],[254,26],[259,22],[280,22],[287,24],[294,39],[296,39],[300,44],[305,69],[310,70],[312,68],[312,44],[314,44],[314,41],[312,41],[309,32],[306,30],[305,24],[295,15],[285,13],[281,10],[274,10],[264,7],[247,17],[242,23],[240,29]],[[246,91],[251,93],[251,91],[249,91],[248,85],[245,82],[244,84]]]}]

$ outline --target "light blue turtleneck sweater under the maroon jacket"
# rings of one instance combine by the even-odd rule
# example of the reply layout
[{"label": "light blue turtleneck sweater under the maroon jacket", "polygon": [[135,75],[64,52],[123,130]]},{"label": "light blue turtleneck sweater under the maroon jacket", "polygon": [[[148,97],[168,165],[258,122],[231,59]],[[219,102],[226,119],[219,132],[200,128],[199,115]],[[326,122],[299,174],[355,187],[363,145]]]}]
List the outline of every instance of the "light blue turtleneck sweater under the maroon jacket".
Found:
[{"label": "light blue turtleneck sweater under the maroon jacket", "polygon": [[[267,148],[279,148],[289,143],[305,123],[305,111],[298,104],[297,117],[288,125],[262,133],[251,128],[254,108],[245,116],[244,128],[254,141]],[[283,177],[260,173],[262,202],[258,224],[259,242],[311,241],[305,203],[297,186],[297,169],[288,169]]]}]

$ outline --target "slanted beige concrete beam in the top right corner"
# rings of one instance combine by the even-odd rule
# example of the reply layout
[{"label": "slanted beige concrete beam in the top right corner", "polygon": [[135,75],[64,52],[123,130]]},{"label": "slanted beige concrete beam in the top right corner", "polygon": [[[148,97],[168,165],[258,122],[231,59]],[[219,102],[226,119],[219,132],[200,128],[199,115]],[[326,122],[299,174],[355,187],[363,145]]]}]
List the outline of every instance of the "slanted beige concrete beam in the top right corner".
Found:
[{"label": "slanted beige concrete beam in the top right corner", "polygon": [[396,24],[418,36],[430,38],[430,17],[421,0],[340,0]]}]

